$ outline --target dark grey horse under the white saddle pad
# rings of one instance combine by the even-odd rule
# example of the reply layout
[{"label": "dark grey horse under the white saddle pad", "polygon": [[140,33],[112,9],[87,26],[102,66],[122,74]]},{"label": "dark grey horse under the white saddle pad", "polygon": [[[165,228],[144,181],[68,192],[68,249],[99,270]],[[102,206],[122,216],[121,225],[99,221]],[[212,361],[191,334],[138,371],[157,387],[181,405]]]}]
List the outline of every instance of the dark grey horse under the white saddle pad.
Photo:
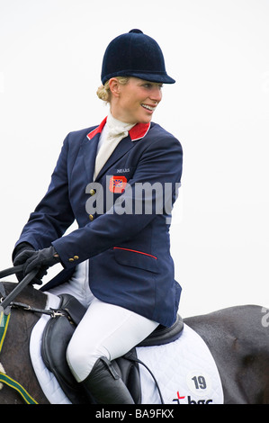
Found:
[{"label": "dark grey horse under the white saddle pad", "polygon": [[[15,284],[4,283],[6,293]],[[27,286],[16,302],[44,309],[46,294]],[[39,404],[45,395],[31,366],[29,339],[39,313],[13,309],[0,355],[6,374],[18,381]],[[264,319],[264,321],[263,321]],[[269,327],[262,307],[232,307],[185,319],[205,341],[218,366],[225,404],[269,403]],[[4,385],[0,404],[23,403],[20,395]]]}]

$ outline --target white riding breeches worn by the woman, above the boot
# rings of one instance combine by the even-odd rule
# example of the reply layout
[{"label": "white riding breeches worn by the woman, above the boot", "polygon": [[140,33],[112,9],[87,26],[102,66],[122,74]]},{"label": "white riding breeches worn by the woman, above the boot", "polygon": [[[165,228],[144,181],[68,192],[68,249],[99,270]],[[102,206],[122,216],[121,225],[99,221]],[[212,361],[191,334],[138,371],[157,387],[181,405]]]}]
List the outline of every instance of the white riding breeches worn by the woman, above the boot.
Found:
[{"label": "white riding breeches worn by the woman, above the boot", "polygon": [[98,358],[113,360],[126,354],[158,326],[133,311],[98,300],[87,275],[86,261],[76,267],[70,281],[49,291],[70,293],[88,308],[67,347],[67,362],[77,382],[85,380]]}]

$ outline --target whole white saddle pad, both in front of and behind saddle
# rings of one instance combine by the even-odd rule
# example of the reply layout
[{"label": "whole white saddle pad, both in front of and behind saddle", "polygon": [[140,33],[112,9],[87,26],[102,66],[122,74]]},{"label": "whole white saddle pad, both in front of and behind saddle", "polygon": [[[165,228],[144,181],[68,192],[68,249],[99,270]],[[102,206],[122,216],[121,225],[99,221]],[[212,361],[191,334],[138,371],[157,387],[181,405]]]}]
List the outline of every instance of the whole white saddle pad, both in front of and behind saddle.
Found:
[{"label": "whole white saddle pad, both in front of and behind saddle", "polygon": [[[46,308],[57,308],[57,296],[47,293]],[[55,376],[41,358],[41,338],[49,316],[43,314],[31,332],[30,355],[40,387],[51,404],[70,404]],[[211,352],[193,329],[184,331],[175,342],[159,347],[139,347],[137,355],[155,375],[166,404],[222,404],[220,375]],[[160,404],[156,384],[143,365],[142,404]]]}]

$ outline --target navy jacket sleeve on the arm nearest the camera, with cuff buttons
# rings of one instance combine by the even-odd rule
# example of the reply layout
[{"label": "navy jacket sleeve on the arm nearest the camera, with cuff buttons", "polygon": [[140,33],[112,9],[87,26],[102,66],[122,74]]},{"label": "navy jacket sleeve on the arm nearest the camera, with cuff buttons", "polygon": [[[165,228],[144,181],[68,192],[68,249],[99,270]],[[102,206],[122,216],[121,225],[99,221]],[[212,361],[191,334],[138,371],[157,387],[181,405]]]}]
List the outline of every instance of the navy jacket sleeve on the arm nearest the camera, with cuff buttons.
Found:
[{"label": "navy jacket sleeve on the arm nearest the camera, with cuff buttons", "polygon": [[[75,266],[121,241],[135,237],[155,219],[157,212],[165,213],[165,186],[173,186],[170,197],[175,200],[176,185],[180,183],[182,175],[182,159],[183,152],[177,139],[167,133],[166,136],[158,136],[143,152],[128,188],[114,202],[112,210],[52,242],[63,266]],[[156,189],[149,189],[148,195],[147,190],[146,193],[138,192],[139,184],[145,183],[149,188]],[[125,205],[131,204],[131,212],[121,212],[123,202]],[[151,212],[147,212],[148,203],[152,207]],[[139,213],[134,210],[138,204]],[[161,211],[160,204],[163,204]]]}]

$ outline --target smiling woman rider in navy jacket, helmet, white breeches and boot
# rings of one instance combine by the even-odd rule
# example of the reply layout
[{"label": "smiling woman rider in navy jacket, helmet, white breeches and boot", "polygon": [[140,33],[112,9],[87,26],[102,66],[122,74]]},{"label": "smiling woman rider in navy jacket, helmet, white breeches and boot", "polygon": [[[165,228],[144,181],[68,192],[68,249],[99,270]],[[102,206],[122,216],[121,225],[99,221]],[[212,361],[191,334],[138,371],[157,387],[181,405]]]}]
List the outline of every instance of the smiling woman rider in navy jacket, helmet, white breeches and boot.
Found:
[{"label": "smiling woman rider in navy jacket, helmet, white breeches and boot", "polygon": [[[132,404],[111,361],[157,325],[175,322],[181,287],[169,223],[182,148],[151,121],[162,85],[175,83],[156,40],[139,30],[112,40],[102,83],[98,95],[109,103],[108,116],[67,135],[13,264],[24,264],[23,275],[39,269],[33,283],[40,283],[49,266],[61,263],[62,272],[42,290],[72,293],[87,306],[67,347],[71,372],[96,403]],[[103,210],[94,209],[92,200],[100,199]],[[65,235],[74,220],[78,229]]]}]

